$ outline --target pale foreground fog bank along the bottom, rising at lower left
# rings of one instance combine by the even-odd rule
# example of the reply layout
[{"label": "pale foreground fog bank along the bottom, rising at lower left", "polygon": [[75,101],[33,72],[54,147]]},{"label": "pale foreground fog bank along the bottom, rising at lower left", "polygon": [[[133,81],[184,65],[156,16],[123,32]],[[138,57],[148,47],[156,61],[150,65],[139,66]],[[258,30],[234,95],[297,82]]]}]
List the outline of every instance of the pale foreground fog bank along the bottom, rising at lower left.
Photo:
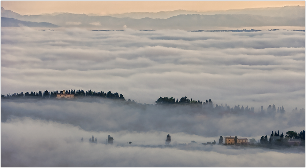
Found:
[{"label": "pale foreground fog bank along the bottom, rising at lower left", "polygon": [[[94,134],[97,144],[87,138]],[[286,150],[245,148],[223,145],[173,144],[113,145],[102,141],[109,132],[84,131],[79,127],[48,122],[39,119],[21,118],[1,122],[2,167],[303,167],[305,148],[292,147]],[[131,133],[132,136],[139,134]],[[166,139],[166,134],[160,137]],[[80,141],[81,136],[84,142]],[[126,138],[126,137],[125,137]],[[143,137],[141,137],[143,138]],[[177,135],[172,136],[175,141]],[[205,139],[205,137],[201,137]],[[129,141],[129,140],[126,140]],[[171,142],[172,143],[172,142]],[[3,145],[5,144],[5,145]],[[288,162],[288,160],[295,160]]]}]

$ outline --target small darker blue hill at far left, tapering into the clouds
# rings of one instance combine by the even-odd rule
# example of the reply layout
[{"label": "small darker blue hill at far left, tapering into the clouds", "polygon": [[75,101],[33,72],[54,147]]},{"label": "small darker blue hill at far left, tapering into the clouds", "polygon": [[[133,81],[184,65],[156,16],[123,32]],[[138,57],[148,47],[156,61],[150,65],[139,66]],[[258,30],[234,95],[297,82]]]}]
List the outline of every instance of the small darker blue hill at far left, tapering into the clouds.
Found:
[{"label": "small darker blue hill at far left, tapering into the clouds", "polygon": [[1,17],[1,27],[59,27],[58,25],[47,22],[27,22],[8,17]]}]

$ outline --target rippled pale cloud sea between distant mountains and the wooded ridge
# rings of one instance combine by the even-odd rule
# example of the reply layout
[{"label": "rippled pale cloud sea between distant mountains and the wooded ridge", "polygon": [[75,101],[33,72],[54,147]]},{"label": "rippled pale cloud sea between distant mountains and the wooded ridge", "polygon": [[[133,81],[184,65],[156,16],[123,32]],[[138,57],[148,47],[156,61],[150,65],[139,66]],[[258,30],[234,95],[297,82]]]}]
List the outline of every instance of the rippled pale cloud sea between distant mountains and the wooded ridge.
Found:
[{"label": "rippled pale cloud sea between distant mountains and the wooded ridge", "polygon": [[305,108],[305,32],[2,28],[1,94],[62,89]]}]

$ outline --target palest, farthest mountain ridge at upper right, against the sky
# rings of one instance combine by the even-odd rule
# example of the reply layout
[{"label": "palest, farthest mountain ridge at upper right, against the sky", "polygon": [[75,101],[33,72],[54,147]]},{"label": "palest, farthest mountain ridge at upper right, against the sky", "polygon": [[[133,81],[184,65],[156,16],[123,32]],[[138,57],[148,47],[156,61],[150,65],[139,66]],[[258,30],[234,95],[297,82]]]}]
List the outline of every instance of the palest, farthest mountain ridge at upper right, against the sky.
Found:
[{"label": "palest, farthest mountain ridge at upper right, against the sky", "polygon": [[207,11],[197,12],[193,10],[174,10],[161,12],[131,12],[122,14],[110,14],[106,16],[112,17],[130,17],[133,19],[141,19],[149,17],[152,19],[167,19],[177,15],[200,14],[200,15],[216,15],[216,14],[251,14],[271,17],[302,17],[305,16],[305,6],[284,6],[284,7],[268,7],[268,8],[246,8],[246,9],[230,9],[223,11]]}]

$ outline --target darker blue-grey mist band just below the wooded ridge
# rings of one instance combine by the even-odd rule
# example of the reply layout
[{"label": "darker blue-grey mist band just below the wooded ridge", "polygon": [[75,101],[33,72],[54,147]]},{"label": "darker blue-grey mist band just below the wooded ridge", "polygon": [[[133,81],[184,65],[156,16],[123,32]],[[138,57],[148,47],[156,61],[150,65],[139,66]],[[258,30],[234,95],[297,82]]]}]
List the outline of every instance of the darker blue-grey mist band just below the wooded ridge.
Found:
[{"label": "darker blue-grey mist band just below the wooded ridge", "polygon": [[[286,133],[293,130],[299,133],[305,130],[305,110],[275,115],[267,113],[222,115],[217,111],[203,111],[190,106],[138,106],[102,98],[75,101],[2,100],[1,121],[7,122],[16,117],[67,123],[86,131],[138,133],[162,131],[165,134],[186,133],[211,137],[207,141],[217,141],[220,136],[231,135],[254,137],[259,140],[263,135],[270,135],[271,131],[279,130],[280,133]],[[172,138],[174,139],[173,136]]]}]

